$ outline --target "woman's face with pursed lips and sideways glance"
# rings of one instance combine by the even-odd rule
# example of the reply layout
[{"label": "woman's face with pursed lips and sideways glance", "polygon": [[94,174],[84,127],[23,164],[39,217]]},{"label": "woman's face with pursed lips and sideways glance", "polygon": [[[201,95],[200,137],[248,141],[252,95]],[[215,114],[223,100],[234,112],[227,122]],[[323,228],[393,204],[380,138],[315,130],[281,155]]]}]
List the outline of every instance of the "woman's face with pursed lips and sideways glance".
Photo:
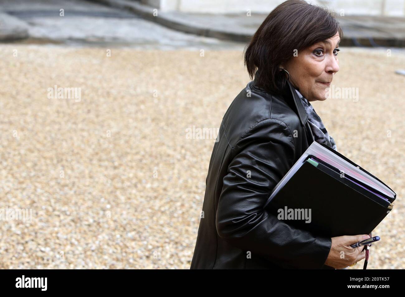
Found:
[{"label": "woman's face with pursed lips and sideways glance", "polygon": [[281,65],[290,74],[290,82],[308,101],[326,99],[333,75],[339,71],[339,41],[339,33],[336,33],[298,52],[296,57]]}]

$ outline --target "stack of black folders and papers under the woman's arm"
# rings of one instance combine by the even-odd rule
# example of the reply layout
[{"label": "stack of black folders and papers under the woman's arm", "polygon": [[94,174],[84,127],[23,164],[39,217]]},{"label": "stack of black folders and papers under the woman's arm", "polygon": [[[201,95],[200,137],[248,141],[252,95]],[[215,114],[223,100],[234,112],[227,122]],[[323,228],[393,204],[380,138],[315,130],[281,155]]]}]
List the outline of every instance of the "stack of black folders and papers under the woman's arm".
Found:
[{"label": "stack of black folders and papers under the woman's arm", "polygon": [[334,237],[371,233],[395,198],[377,177],[314,141],[275,186],[265,207],[286,223]]}]

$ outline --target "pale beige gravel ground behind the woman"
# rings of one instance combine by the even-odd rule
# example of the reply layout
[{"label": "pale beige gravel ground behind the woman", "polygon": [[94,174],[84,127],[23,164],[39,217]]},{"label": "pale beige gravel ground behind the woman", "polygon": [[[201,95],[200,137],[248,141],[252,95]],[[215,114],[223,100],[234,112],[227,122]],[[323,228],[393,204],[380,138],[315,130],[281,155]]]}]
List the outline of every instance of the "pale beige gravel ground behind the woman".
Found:
[{"label": "pale beige gravel ground behind the woman", "polygon": [[[404,268],[405,54],[339,55],[335,86],[358,101],[313,105],[339,152],[396,191],[369,269]],[[0,57],[0,210],[32,210],[3,217],[0,268],[188,269],[214,141],[186,129],[219,127],[249,82],[242,53],[11,44]],[[80,101],[48,98],[54,85]]]}]

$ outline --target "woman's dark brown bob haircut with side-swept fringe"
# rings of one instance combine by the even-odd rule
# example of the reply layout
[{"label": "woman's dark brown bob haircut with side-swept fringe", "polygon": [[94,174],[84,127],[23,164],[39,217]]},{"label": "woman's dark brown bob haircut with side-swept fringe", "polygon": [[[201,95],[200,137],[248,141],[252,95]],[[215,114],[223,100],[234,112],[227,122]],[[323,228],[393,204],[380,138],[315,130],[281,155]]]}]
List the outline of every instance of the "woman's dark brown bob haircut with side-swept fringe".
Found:
[{"label": "woman's dark brown bob haircut with side-swept fringe", "polygon": [[[245,65],[250,78],[256,71],[257,86],[281,94],[286,73],[279,67],[294,52],[343,32],[330,11],[304,0],[288,0],[273,9],[245,47]],[[294,51],[295,50],[295,51]]]}]

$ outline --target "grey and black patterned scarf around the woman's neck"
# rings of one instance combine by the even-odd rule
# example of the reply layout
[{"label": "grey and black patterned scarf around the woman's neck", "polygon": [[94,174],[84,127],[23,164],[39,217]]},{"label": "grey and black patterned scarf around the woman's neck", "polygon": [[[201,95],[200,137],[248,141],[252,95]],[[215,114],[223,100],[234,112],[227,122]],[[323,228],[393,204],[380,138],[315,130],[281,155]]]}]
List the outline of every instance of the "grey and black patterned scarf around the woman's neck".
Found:
[{"label": "grey and black patterned scarf around the woman's neck", "polygon": [[337,151],[335,139],[333,139],[333,137],[328,134],[328,131],[326,131],[326,128],[322,123],[321,118],[315,112],[311,103],[309,103],[309,101],[303,95],[301,95],[301,93],[298,92],[297,89],[295,89],[295,91],[297,92],[298,97],[301,98],[305,111],[308,114],[309,126],[311,126],[313,136],[315,137],[315,141],[318,143],[324,143],[328,145],[328,147],[331,147],[335,151]]}]

